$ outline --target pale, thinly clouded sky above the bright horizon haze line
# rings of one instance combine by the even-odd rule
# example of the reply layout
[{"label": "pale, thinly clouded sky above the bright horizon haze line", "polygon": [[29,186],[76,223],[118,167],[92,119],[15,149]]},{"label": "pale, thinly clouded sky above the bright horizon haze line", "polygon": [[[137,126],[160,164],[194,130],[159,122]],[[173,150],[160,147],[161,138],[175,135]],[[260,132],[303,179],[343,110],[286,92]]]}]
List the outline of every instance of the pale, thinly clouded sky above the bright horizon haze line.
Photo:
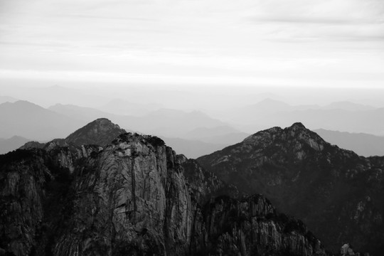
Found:
[{"label": "pale, thinly clouded sky above the bright horizon haze line", "polygon": [[12,79],[381,88],[384,1],[0,0]]}]

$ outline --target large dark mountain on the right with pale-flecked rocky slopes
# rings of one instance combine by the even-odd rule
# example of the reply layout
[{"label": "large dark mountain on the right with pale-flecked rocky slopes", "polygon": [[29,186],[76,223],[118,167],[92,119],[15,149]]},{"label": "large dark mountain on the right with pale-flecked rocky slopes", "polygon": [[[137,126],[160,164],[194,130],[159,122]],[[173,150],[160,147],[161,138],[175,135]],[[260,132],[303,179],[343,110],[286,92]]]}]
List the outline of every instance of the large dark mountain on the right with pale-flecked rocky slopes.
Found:
[{"label": "large dark mountain on the right with pale-flecked rocky slopes", "polygon": [[384,251],[384,157],[364,158],[300,123],[274,127],[197,161],[246,193],[262,193],[304,220],[335,252]]}]

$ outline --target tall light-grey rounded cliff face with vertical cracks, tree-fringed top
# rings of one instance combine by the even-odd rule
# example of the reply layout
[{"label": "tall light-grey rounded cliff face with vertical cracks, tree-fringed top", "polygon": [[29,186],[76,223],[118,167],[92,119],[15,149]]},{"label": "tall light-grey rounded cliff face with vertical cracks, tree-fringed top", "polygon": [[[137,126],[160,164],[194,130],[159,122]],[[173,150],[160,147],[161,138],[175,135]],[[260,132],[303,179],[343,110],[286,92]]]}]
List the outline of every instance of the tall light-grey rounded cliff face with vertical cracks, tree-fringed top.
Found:
[{"label": "tall light-grey rounded cliff face with vertical cracks, tree-fringed top", "polygon": [[54,255],[185,254],[191,200],[161,139],[123,134],[78,175],[73,217]]}]

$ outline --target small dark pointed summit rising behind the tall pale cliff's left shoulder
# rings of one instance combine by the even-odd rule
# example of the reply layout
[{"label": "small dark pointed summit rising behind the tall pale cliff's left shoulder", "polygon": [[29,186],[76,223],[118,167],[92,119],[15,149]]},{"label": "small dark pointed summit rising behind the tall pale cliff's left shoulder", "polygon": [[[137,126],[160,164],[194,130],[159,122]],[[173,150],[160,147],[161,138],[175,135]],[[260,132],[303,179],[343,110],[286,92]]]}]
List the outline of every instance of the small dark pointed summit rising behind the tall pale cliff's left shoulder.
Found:
[{"label": "small dark pointed summit rising behind the tall pale cliff's left shoulder", "polygon": [[78,146],[82,144],[105,146],[122,133],[125,133],[125,130],[112,123],[110,119],[99,118],[70,134],[65,138],[65,142]]}]

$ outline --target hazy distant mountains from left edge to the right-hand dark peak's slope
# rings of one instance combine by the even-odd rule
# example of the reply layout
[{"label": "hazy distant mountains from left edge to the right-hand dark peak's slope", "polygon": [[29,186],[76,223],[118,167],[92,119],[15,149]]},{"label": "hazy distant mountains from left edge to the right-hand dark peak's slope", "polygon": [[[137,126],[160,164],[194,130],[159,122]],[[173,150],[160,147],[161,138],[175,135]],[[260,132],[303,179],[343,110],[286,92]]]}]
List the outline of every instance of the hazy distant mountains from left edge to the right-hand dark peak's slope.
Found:
[{"label": "hazy distant mountains from left edge to the right-hand dark peak's slope", "polygon": [[[100,117],[122,124],[127,131],[158,134],[188,157],[198,157],[223,149],[240,142],[248,135],[202,112],[157,110],[142,117],[134,117],[75,105],[57,104],[47,110],[26,101],[0,105],[0,118],[4,120],[0,134],[4,137],[16,134],[31,140],[48,141],[54,137],[63,137],[73,127]],[[17,139],[4,139],[0,141],[0,147],[4,150],[2,153],[17,149],[26,141],[24,139],[22,143]]]}]

